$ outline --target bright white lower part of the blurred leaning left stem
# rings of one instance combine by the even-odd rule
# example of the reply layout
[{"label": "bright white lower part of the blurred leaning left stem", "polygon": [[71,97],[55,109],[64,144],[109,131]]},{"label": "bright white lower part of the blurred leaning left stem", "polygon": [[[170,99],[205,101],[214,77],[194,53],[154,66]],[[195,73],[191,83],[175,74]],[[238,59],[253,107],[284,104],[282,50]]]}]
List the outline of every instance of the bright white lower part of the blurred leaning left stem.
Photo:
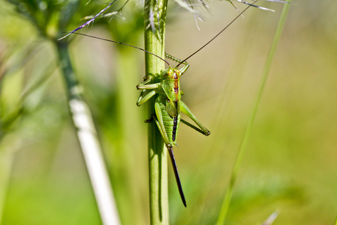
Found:
[{"label": "bright white lower part of the blurred leaning left stem", "polygon": [[84,101],[77,99],[70,101],[70,110],[72,111],[74,125],[77,128],[79,144],[83,151],[102,222],[104,225],[119,225],[121,223],[114,202],[112,186],[90,110]]}]

